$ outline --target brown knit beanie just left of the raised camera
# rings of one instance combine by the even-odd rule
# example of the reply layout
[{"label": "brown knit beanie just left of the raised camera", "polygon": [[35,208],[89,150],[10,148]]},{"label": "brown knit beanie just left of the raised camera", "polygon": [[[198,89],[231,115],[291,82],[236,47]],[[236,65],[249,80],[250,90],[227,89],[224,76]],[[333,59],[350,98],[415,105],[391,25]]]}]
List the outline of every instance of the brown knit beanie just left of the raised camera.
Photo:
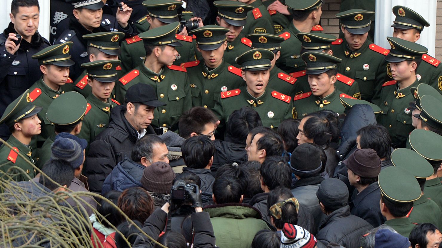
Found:
[{"label": "brown knit beanie just left of the raised camera", "polygon": [[141,185],[147,191],[168,194],[174,178],[175,172],[168,163],[155,162],[144,169]]}]

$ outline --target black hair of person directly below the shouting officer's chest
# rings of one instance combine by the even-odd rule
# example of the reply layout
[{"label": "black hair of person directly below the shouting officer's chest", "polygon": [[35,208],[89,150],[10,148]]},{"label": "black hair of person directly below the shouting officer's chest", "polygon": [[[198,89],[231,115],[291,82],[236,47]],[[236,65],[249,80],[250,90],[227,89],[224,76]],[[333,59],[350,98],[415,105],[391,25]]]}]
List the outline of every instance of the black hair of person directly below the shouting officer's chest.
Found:
[{"label": "black hair of person directly below the shouting officer's chest", "polygon": [[229,115],[226,127],[226,140],[235,144],[246,144],[248,133],[257,126],[263,126],[258,112],[250,107],[242,107]]}]

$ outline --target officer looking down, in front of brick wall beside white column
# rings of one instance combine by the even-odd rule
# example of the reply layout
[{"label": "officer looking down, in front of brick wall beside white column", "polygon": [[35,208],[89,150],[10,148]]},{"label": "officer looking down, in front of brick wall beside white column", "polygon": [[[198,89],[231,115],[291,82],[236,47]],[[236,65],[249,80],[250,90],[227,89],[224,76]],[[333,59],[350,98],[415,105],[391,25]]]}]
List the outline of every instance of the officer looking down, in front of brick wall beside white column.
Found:
[{"label": "officer looking down, in front of brick wall beside white column", "polygon": [[384,57],[388,50],[367,39],[373,15],[373,11],[361,9],[336,14],[345,38],[331,48],[333,55],[343,60],[338,67],[339,73],[357,80],[361,98],[367,101],[376,95],[375,89],[384,82],[387,73]]}]

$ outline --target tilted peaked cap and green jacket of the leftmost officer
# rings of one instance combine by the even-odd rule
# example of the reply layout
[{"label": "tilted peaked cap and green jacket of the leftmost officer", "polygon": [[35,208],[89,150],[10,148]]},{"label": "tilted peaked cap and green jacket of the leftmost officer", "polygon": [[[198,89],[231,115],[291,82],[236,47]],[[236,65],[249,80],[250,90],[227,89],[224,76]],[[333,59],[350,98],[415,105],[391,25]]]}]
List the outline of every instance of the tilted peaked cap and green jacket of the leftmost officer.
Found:
[{"label": "tilted peaked cap and green jacket of the leftmost officer", "polygon": [[[21,96],[15,99],[11,104],[6,107],[3,116],[0,118],[0,124],[6,123],[11,128],[16,122],[25,118],[32,117],[42,110],[42,107],[37,107],[30,102],[29,90],[27,89]],[[5,144],[0,146],[0,177],[14,181],[28,181],[30,178],[34,178],[37,174],[34,170],[34,159],[32,159],[32,148],[30,145],[23,144],[17,138],[14,133],[8,138],[7,144],[13,149],[9,148]],[[24,159],[19,156],[23,155]],[[13,168],[8,175],[4,175],[11,167],[18,167],[24,171]]]}]

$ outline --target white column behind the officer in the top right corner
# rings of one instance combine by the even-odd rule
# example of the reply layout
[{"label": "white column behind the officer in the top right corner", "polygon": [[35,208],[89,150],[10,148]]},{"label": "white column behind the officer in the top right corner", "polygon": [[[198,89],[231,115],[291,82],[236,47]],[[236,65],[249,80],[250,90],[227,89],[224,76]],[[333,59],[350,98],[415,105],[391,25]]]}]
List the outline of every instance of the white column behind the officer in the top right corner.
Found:
[{"label": "white column behind the officer in the top right corner", "polygon": [[374,43],[383,48],[390,49],[390,45],[385,37],[393,36],[393,24],[396,18],[392,8],[402,5],[422,15],[430,23],[421,33],[419,43],[428,48],[428,54],[434,56],[436,44],[436,0],[377,0],[376,1],[376,22]]}]

